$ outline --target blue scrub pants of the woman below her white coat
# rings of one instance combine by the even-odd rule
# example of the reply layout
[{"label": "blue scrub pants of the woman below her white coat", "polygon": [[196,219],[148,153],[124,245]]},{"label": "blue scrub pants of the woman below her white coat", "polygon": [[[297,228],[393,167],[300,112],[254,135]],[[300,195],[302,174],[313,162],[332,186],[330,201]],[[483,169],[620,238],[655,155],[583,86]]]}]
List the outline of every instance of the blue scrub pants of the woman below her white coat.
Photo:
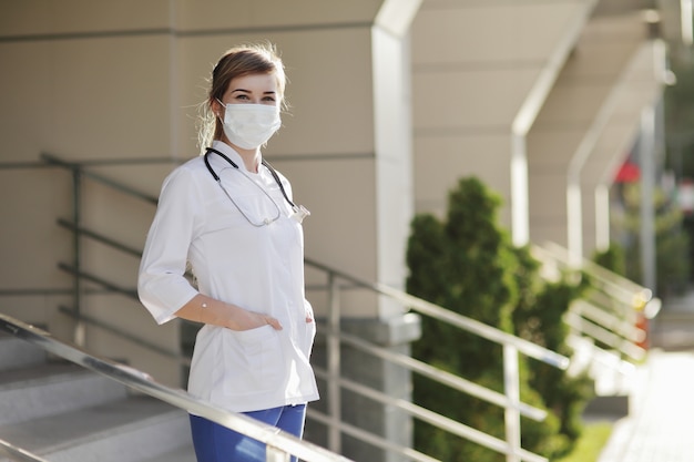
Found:
[{"label": "blue scrub pants of the woman below her white coat", "polygon": [[[295,437],[302,438],[306,404],[244,412]],[[265,444],[202,417],[191,415],[197,462],[265,462]],[[292,462],[297,458],[292,456]]]}]

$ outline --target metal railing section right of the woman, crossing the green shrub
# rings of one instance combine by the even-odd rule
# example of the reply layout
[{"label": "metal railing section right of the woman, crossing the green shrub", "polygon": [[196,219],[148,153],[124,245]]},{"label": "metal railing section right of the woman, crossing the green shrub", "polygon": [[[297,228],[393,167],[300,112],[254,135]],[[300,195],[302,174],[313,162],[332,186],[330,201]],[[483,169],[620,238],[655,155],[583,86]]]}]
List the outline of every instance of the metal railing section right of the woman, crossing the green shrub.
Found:
[{"label": "metal railing section right of the woman, crossing the green shrub", "polygon": [[[569,362],[570,362],[569,358],[562,355],[559,355],[557,352],[553,352],[551,350],[548,350],[530,341],[527,341],[521,338],[509,335],[507,332],[503,332],[493,327],[487,326],[482,322],[458,315],[453,311],[450,311],[435,304],[431,304],[429,301],[426,301],[415,296],[411,296],[409,294],[406,294],[401,290],[397,290],[392,287],[386,286],[384,284],[379,284],[379,283],[371,284],[363,279],[356,278],[354,276],[347,275],[345,273],[337,271],[333,268],[329,268],[325,265],[322,265],[310,259],[307,259],[306,264],[308,266],[312,266],[316,269],[324,271],[328,278],[328,287],[330,290],[330,294],[329,294],[330,306],[329,306],[329,316],[328,316],[329,318],[328,328],[327,328],[326,335],[328,337],[328,352],[327,353],[328,353],[328,358],[333,358],[333,362],[328,363],[327,377],[336,378],[337,382],[335,383],[339,384],[340,387],[348,388],[358,393],[369,396],[372,399],[380,400],[384,403],[394,405],[400,410],[408,412],[409,414],[411,414],[412,417],[417,419],[427,421],[428,423],[435,427],[438,427],[442,430],[446,430],[461,438],[466,438],[490,450],[506,454],[507,461],[521,461],[521,460],[531,461],[531,462],[547,461],[545,458],[542,458],[538,454],[525,451],[521,448],[521,442],[520,442],[521,415],[533,419],[535,421],[542,421],[547,417],[547,411],[528,405],[520,401],[519,352],[528,357],[534,358],[537,360],[540,360],[542,362],[545,362],[550,366],[557,367],[559,369],[567,369],[569,367]],[[390,297],[397,300],[398,302],[400,302],[402,306],[407,306],[412,311],[418,312],[419,315],[432,317],[440,321],[447,322],[453,327],[457,327],[468,332],[480,336],[494,343],[501,345],[503,347],[504,393],[498,393],[496,391],[480,387],[460,377],[457,377],[451,373],[439,370],[437,368],[433,368],[409,356],[394,353],[387,349],[378,348],[369,342],[366,342],[355,336],[340,332],[339,330],[340,311],[339,311],[339,301],[338,301],[339,295],[337,294],[338,285],[336,284],[337,279],[344,279],[347,283],[351,284],[354,287],[365,288],[376,294]],[[364,387],[359,387],[358,384],[351,381],[339,378],[337,371],[339,371],[339,346],[341,343],[349,345],[365,352],[392,361],[401,367],[409,369],[410,371],[415,373],[426,376],[427,378],[435,380],[439,383],[447,384],[448,387],[451,387],[455,390],[465,392],[480,400],[483,400],[489,403],[497,404],[503,408],[507,441],[499,440],[497,438],[482,433],[468,425],[461,424],[459,422],[455,422],[442,415],[435,414],[410,402],[402,402],[400,400],[388,399],[382,393],[368,391]],[[339,412],[339,408],[340,408],[339,394],[340,393],[339,393],[338,388],[328,389],[328,400],[335,403],[334,407],[331,408],[333,413]],[[339,421],[340,419],[335,415],[333,415],[333,420],[330,420],[330,422],[339,422]],[[333,432],[336,432],[338,430],[351,430],[351,429],[346,429],[344,424],[339,424],[331,429]],[[339,443],[337,442],[338,440],[339,440],[339,437],[337,434],[333,434],[331,441],[334,441],[334,443],[331,444],[335,444],[335,448],[339,448]],[[390,449],[390,448],[387,448],[387,449]],[[398,451],[398,452],[401,452],[405,454],[405,452],[402,451]],[[412,460],[416,460],[416,461],[431,461],[432,460],[426,454],[421,454],[412,450],[408,450],[406,455],[410,456]]]}]

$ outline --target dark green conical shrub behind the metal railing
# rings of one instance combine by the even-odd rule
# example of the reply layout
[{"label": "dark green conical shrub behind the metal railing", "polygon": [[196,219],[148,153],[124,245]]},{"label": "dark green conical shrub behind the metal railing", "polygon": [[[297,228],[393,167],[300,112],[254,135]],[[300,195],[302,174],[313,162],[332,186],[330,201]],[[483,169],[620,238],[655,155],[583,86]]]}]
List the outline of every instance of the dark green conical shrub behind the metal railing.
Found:
[{"label": "dark green conical shrub behind the metal railing", "polygon": [[[565,281],[548,284],[528,249],[513,248],[497,226],[501,204],[477,178],[449,195],[447,219],[415,217],[407,249],[410,294],[507,332],[565,352],[561,316],[580,292]],[[443,370],[503,392],[502,349],[472,333],[425,317],[412,355]],[[547,408],[544,422],[522,420],[523,448],[547,458],[565,453],[580,433],[585,398],[564,371],[520,357],[521,399]],[[415,376],[416,403],[504,439],[503,410]],[[503,461],[504,456],[428,423],[415,422],[415,446],[448,462]]]}]

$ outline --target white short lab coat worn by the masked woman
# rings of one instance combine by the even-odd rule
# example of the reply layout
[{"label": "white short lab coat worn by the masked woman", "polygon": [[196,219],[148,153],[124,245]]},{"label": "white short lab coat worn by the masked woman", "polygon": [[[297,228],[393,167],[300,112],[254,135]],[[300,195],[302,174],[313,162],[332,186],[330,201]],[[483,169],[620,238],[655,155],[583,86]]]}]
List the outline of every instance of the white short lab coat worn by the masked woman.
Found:
[{"label": "white short lab coat worn by the masked woman", "polygon": [[[265,166],[257,174],[247,172],[228,145],[215,142],[213,147],[241,170],[210,155],[238,207],[214,181],[202,156],[174,170],[164,181],[147,235],[140,299],[159,324],[174,318],[198,290],[282,324],[283,330],[263,326],[246,331],[204,326],[193,353],[192,394],[235,412],[317,400],[309,365],[315,322],[306,322],[313,312],[304,294],[302,225],[290,218],[290,206]],[[289,183],[280,178],[290,197]],[[248,222],[261,224],[278,212],[279,218],[267,226]],[[184,277],[186,263],[197,288]]]}]

